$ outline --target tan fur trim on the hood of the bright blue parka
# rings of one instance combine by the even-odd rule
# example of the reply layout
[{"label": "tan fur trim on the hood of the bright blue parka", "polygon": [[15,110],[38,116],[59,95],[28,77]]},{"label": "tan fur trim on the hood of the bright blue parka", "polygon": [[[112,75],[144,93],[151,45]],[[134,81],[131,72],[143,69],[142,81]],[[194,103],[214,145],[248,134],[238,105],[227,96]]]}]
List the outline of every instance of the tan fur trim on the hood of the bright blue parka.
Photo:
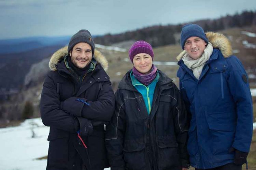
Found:
[{"label": "tan fur trim on the hood of the bright blue parka", "polygon": [[[227,58],[232,55],[232,47],[231,43],[228,40],[228,38],[218,32],[206,32],[205,33],[209,42],[212,43],[213,48],[219,48],[224,56],[224,58]],[[180,61],[182,57],[185,55],[186,50],[182,51],[176,59]]]}]

